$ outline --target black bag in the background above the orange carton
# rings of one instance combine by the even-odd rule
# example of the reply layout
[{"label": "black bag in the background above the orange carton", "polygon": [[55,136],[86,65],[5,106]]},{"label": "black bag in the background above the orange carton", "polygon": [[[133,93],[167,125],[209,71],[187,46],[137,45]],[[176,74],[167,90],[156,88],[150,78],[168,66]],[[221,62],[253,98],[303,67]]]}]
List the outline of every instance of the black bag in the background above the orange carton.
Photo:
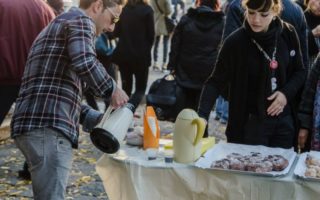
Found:
[{"label": "black bag in the background above the orange carton", "polygon": [[171,74],[155,80],[147,95],[147,106],[152,106],[159,120],[174,122],[183,109],[183,91]]}]

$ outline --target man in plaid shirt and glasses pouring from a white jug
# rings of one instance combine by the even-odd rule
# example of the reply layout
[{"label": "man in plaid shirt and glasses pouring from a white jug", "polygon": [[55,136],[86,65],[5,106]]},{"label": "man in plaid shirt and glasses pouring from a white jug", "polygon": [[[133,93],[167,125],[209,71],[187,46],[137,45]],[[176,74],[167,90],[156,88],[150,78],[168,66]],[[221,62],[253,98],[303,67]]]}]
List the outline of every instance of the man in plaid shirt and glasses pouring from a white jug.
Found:
[{"label": "man in plaid shirt and glasses pouring from a white jug", "polygon": [[11,129],[29,164],[35,199],[64,199],[79,123],[100,117],[81,105],[82,83],[96,96],[111,97],[114,107],[128,101],[94,49],[97,35],[113,31],[123,4],[80,0],[80,8],[58,16],[31,47]]}]

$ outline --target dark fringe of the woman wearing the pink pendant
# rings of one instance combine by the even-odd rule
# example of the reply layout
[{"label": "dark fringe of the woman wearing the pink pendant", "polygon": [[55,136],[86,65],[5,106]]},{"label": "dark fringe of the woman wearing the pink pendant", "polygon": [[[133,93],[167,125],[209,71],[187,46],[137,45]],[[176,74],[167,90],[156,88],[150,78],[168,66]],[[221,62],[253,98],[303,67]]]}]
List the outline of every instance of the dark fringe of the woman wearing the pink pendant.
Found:
[{"label": "dark fringe of the woman wearing the pink pendant", "polygon": [[257,10],[259,12],[267,12],[272,9],[278,14],[282,9],[281,0],[243,0],[242,6],[245,9]]}]

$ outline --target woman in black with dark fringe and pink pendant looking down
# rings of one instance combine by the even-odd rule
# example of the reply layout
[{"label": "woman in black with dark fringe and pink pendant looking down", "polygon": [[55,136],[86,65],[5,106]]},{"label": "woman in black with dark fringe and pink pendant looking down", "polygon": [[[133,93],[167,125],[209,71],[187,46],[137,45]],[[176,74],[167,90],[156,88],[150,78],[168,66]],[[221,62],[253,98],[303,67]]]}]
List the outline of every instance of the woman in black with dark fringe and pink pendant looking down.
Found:
[{"label": "woman in black with dark fringe and pink pendant looking down", "polygon": [[224,41],[199,115],[208,119],[223,94],[230,105],[228,142],[291,148],[295,101],[306,77],[297,33],[278,17],[279,0],[243,0],[243,6],[244,25]]}]

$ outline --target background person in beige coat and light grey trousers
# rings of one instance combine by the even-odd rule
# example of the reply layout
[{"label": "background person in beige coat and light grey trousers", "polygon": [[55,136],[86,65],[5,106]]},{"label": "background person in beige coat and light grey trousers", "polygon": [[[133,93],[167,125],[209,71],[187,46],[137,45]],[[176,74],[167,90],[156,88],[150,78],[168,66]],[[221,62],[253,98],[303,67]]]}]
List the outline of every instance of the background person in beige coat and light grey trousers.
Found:
[{"label": "background person in beige coat and light grey trousers", "polygon": [[[153,46],[153,69],[154,70],[166,70],[167,69],[167,56],[168,56],[168,44],[170,33],[167,30],[165,24],[165,16],[169,16],[172,13],[170,0],[151,0],[150,5],[154,10],[154,24],[155,24],[155,43]],[[162,37],[163,54],[162,64],[158,63],[158,48],[160,39]]]}]

